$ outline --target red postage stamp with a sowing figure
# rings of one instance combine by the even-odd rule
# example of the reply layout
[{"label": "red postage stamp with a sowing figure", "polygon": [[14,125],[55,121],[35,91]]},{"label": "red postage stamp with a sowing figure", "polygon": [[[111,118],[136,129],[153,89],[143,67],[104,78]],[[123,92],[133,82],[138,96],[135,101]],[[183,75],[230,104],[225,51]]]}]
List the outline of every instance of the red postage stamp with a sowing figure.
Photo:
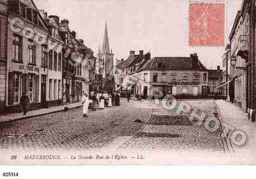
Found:
[{"label": "red postage stamp with a sowing figure", "polygon": [[189,4],[189,45],[225,45],[225,3]]}]

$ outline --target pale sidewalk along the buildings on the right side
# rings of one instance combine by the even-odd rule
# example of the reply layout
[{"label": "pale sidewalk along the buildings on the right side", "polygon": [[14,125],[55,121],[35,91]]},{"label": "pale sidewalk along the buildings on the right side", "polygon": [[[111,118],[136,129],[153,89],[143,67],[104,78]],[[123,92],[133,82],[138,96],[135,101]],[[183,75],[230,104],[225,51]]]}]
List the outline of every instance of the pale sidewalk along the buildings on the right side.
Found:
[{"label": "pale sidewalk along the buildings on the right side", "polygon": [[[251,122],[248,116],[237,106],[224,100],[216,100],[217,110],[221,122],[225,122],[235,127],[235,130],[241,130],[247,135],[247,141],[242,146],[237,146],[230,142],[231,152],[234,151],[235,156],[240,156],[246,160],[256,162],[256,123]],[[229,138],[230,138],[229,134]]]}]

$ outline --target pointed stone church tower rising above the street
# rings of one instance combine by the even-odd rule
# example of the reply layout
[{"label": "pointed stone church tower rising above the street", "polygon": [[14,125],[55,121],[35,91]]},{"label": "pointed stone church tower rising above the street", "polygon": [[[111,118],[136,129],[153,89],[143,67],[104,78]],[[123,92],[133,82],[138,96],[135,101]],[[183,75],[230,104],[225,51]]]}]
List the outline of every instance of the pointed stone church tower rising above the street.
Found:
[{"label": "pointed stone church tower rising above the street", "polygon": [[102,49],[98,50],[97,54],[97,64],[96,64],[96,72],[101,74],[103,78],[107,78],[110,74],[114,64],[114,54],[112,49],[109,50],[109,40],[108,40],[108,29],[107,22],[105,24],[104,38],[102,43]]}]

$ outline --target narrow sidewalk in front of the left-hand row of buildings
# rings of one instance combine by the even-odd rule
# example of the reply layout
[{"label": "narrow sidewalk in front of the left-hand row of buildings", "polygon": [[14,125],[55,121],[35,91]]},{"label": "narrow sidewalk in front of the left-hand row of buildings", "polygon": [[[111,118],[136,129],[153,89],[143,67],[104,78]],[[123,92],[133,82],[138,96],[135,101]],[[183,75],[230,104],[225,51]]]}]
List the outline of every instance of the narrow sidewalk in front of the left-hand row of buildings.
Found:
[{"label": "narrow sidewalk in front of the left-hand row of buildings", "polygon": [[64,107],[68,107],[68,109],[73,109],[73,108],[78,108],[80,106],[82,106],[81,102],[67,104],[64,106],[55,106],[55,107],[51,107],[51,108],[28,111],[26,115],[23,115],[23,113],[12,113],[12,114],[0,115],[0,123],[8,122],[8,121],[22,120],[22,119],[27,119],[27,118],[31,118],[31,117],[37,117],[37,116],[42,116],[42,115],[46,115],[46,114],[50,114],[50,113],[60,112],[60,111],[64,111]]}]

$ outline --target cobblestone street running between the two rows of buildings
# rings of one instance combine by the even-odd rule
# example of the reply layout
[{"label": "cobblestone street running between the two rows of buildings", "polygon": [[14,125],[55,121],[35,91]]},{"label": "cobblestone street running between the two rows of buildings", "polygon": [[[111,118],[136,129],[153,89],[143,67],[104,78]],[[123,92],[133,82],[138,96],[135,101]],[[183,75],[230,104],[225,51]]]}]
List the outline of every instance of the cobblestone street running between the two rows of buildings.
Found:
[{"label": "cobblestone street running between the two rows of buildings", "polygon": [[[214,100],[186,101],[215,111]],[[134,122],[135,120],[141,122]],[[148,101],[121,100],[121,106],[90,111],[81,108],[0,124],[1,150],[177,150],[224,153],[221,132],[208,132],[186,116],[167,114]],[[8,137],[11,136],[11,137]],[[19,136],[19,137],[15,137]],[[20,137],[21,136],[21,137]]]}]

